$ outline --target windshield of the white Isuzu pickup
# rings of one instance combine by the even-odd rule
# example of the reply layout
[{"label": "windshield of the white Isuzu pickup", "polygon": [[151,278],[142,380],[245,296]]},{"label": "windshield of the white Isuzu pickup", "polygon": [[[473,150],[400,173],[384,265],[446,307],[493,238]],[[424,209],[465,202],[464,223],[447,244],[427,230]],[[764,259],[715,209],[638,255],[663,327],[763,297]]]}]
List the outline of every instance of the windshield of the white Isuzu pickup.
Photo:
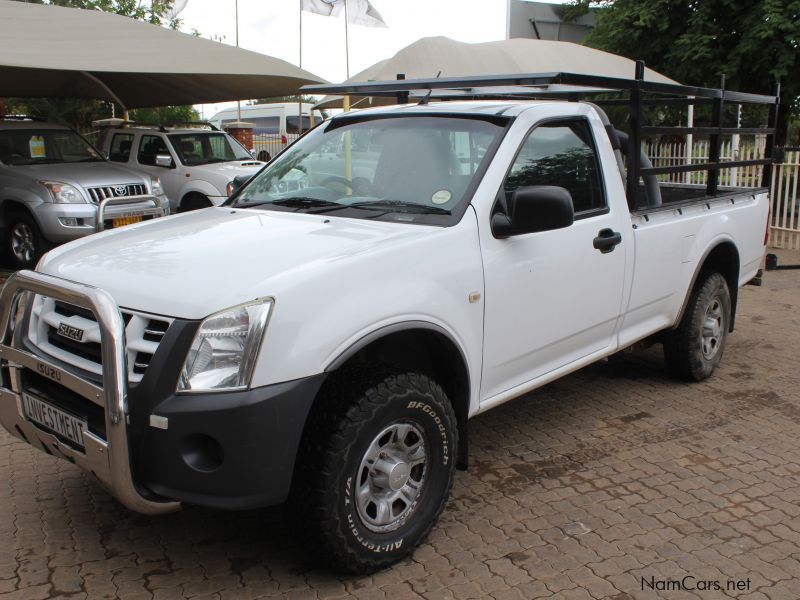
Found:
[{"label": "windshield of the white Isuzu pickup", "polygon": [[503,125],[455,116],[334,119],[275,158],[233,205],[444,224],[443,215],[461,212]]}]

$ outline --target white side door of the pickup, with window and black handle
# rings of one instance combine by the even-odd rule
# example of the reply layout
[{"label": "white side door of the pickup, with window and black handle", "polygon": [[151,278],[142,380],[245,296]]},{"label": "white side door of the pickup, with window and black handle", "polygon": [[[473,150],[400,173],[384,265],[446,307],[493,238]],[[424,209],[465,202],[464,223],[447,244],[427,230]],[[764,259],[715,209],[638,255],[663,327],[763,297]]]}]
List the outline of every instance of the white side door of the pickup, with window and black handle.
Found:
[{"label": "white side door of the pickup, with window and black handle", "polygon": [[[529,185],[567,189],[575,221],[567,228],[506,239],[494,238],[487,224],[488,233],[481,236],[486,285],[482,401],[608,348],[621,312],[630,220],[627,212],[609,209],[587,119],[559,118],[535,126],[518,150],[498,202],[510,202],[516,188]],[[622,247],[601,252],[593,242],[607,229],[622,234]]]}]

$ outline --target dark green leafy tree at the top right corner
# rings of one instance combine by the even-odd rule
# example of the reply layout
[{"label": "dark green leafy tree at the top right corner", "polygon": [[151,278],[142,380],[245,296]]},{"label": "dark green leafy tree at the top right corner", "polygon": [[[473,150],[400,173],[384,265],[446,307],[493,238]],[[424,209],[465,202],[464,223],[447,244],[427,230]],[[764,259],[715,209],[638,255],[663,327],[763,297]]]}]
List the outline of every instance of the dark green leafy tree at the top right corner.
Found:
[{"label": "dark green leafy tree at the top right corner", "polygon": [[586,40],[594,48],[642,59],[687,85],[773,93],[781,83],[776,141],[800,116],[800,0],[575,0],[564,12],[589,7],[596,26]]}]

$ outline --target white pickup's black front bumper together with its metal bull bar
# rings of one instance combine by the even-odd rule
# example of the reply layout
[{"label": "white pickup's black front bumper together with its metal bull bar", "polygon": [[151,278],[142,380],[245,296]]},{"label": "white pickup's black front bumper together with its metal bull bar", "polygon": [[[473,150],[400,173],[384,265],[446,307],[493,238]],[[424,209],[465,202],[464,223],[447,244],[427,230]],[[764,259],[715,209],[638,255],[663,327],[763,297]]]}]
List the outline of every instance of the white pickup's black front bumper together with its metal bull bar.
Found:
[{"label": "white pickup's black front bumper together with its metal bull bar", "polygon": [[[102,383],[24,345],[23,292],[91,310],[101,330]],[[141,382],[129,386],[124,323],[104,291],[20,271],[0,292],[0,424],[32,446],[92,473],[119,501],[160,514],[189,502],[254,508],[283,502],[311,404],[325,375],[240,392],[176,394],[196,321],[175,320]],[[14,335],[9,322],[21,323]],[[12,337],[13,335],[13,337]],[[35,386],[35,387],[34,387]],[[22,393],[85,418],[85,450],[25,417]]]}]

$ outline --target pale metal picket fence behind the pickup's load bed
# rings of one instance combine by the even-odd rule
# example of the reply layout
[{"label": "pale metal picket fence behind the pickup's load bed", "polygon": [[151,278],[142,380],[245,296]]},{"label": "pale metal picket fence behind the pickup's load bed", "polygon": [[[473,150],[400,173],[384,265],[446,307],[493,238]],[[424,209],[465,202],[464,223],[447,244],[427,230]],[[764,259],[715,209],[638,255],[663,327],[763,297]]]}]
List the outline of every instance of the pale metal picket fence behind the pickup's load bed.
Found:
[{"label": "pale metal picket fence behind the pickup's load bed", "polygon": [[[706,162],[709,141],[694,140],[691,156],[685,142],[656,142],[646,140],[642,144],[655,167],[682,165],[687,162]],[[750,136],[746,140],[723,141],[721,160],[750,160],[764,156],[764,137]],[[690,160],[691,159],[691,160]],[[720,171],[720,186],[759,187],[761,165],[739,167]],[[705,185],[706,172],[670,173],[657,176],[660,181]],[[770,217],[770,245],[774,248],[800,250],[800,201],[797,197],[797,180],[800,177],[800,149],[785,153],[783,162],[772,171],[772,197]]]}]

